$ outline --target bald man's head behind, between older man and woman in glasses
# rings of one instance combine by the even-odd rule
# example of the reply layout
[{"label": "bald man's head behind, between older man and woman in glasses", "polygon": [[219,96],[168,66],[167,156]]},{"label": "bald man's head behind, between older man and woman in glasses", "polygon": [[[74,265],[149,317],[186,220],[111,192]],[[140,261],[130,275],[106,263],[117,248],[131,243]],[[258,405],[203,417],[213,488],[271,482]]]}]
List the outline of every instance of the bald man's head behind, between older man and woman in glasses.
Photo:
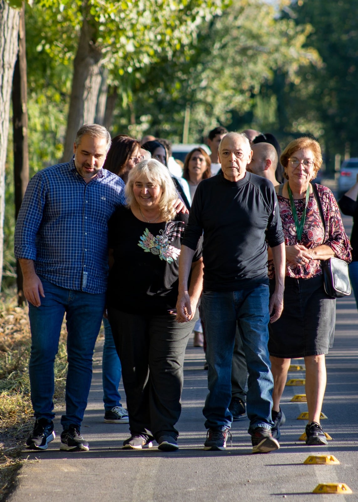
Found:
[{"label": "bald man's head behind, between older man and woman in glasses", "polygon": [[247,166],[247,171],[257,174],[262,178],[271,181],[273,186],[279,185],[276,180],[275,171],[278,163],[278,156],[275,147],[270,143],[258,143],[251,145],[252,159]]}]

